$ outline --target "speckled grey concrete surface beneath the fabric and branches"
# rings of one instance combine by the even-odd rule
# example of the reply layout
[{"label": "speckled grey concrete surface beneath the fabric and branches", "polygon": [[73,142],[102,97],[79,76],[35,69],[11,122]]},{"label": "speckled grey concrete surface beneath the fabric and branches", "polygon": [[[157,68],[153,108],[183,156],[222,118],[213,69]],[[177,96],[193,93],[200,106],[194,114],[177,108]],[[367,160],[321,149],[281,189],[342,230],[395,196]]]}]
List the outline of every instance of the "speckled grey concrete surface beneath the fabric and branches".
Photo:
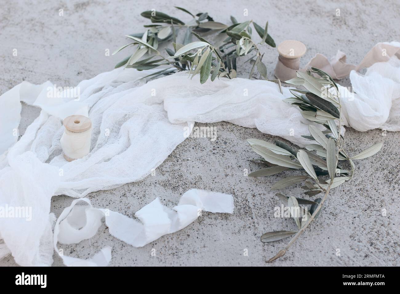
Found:
[{"label": "speckled grey concrete surface beneath the fabric and branches", "polygon": [[[286,39],[304,42],[308,48],[302,66],[321,52],[330,57],[338,49],[348,61],[358,63],[377,42],[400,39],[400,4],[389,1],[10,1],[0,0],[0,92],[22,80],[42,83],[51,80],[61,86],[75,86],[82,79],[112,70],[126,56],[106,56],[126,44],[125,34],[142,32],[150,21],[140,16],[155,8],[189,20],[173,8],[209,12],[216,21],[229,24],[232,14],[239,21],[269,21],[269,33],[277,44]],[[59,16],[59,9],[64,15]],[[248,16],[243,10],[248,9]],[[340,16],[336,16],[340,9]],[[13,49],[18,55],[13,56]],[[266,52],[269,77],[278,54]],[[239,76],[248,69],[238,65]],[[349,80],[340,82],[350,86]],[[1,107],[1,105],[0,105]],[[24,105],[20,131],[38,115]],[[90,240],[61,246],[65,254],[88,258],[104,245],[113,247],[112,266],[399,266],[399,133],[381,130],[346,130],[350,154],[384,140],[379,154],[356,163],[356,176],[330,194],[318,219],[310,225],[286,256],[272,264],[286,240],[264,244],[260,236],[270,230],[294,229],[292,220],[274,218],[279,200],[270,191],[281,176],[245,177],[261,168],[249,161],[254,153],[247,138],[273,140],[273,136],[230,123],[212,124],[218,139],[188,138],[168,159],[141,182],[89,194],[95,207],[106,207],[132,217],[134,212],[160,197],[167,206],[178,203],[182,193],[200,188],[234,195],[233,215],[203,213],[194,223],[174,234],[133,248],[108,234],[106,226]],[[300,196],[300,185],[284,190]],[[51,211],[58,216],[73,199],[52,198]],[[382,215],[382,209],[386,215]],[[152,248],[155,256],[151,255]],[[248,250],[248,256],[244,250]],[[336,253],[340,249],[340,256]],[[15,266],[12,256],[0,266]],[[54,255],[54,266],[62,262]]]}]

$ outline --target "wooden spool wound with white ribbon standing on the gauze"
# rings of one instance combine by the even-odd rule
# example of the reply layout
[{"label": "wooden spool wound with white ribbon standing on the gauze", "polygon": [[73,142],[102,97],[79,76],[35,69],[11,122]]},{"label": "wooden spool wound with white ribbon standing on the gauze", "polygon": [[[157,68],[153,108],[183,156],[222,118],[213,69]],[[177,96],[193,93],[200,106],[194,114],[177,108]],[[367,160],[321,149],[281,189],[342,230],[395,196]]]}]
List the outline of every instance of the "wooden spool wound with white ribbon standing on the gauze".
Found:
[{"label": "wooden spool wound with white ribbon standing on the gauze", "polygon": [[65,127],[60,143],[64,158],[72,161],[82,158],[90,152],[92,138],[92,121],[83,115],[71,115],[64,118]]}]

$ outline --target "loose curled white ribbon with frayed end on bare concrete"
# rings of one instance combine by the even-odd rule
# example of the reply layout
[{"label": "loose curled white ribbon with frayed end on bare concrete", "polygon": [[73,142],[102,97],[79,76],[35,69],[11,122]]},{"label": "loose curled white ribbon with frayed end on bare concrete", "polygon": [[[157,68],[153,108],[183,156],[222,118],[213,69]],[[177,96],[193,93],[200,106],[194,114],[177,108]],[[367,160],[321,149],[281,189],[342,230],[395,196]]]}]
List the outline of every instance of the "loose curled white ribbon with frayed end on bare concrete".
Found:
[{"label": "loose curled white ribbon with frayed end on bare concrete", "polygon": [[[89,206],[76,206],[86,202]],[[93,237],[100,228],[104,217],[110,234],[134,247],[142,247],[165,234],[177,232],[188,226],[201,215],[202,211],[232,214],[232,195],[191,189],[185,192],[179,204],[170,209],[156,198],[135,213],[140,220],[128,218],[118,212],[104,208],[93,208],[88,198],[72,201],[64,209],[54,227],[54,250],[57,242],[74,244]],[[105,246],[93,258],[84,260],[60,254],[67,266],[106,266],[111,260],[111,247]]]}]

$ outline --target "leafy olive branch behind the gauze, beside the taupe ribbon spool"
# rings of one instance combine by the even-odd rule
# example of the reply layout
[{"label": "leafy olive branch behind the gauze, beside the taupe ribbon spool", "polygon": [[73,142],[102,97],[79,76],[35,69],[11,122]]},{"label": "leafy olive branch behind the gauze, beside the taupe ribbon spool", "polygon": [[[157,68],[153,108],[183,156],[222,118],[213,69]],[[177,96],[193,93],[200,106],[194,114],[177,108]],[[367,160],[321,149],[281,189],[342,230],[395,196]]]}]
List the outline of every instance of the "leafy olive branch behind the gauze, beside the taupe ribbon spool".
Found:
[{"label": "leafy olive branch behind the gauze, beside the taupe ribbon spool", "polygon": [[[264,54],[258,48],[262,44],[276,46],[268,34],[268,22],[266,22],[265,28],[262,28],[252,20],[239,23],[236,18],[231,16],[232,25],[228,26],[221,22],[215,22],[207,12],[195,15],[184,8],[176,8],[189,14],[192,19],[184,23],[178,18],[155,10],[142,12],[141,15],[150,19],[153,24],[144,25],[144,33],[126,36],[131,42],[117,49],[112,55],[132,46],[134,47],[133,53],[119,62],[115,68],[125,66],[125,68],[136,68],[137,70],[150,70],[163,66],[160,71],[153,72],[144,78],[150,76],[156,78],[186,70],[191,78],[200,74],[200,83],[204,84],[210,74],[211,81],[217,77],[236,78],[236,59],[254,51],[254,56],[246,60],[252,65],[249,79],[257,68],[260,75],[268,80],[267,69],[262,62]],[[252,40],[251,24],[260,36],[261,42],[257,43]],[[186,30],[182,44],[177,42],[177,32],[181,29]],[[204,39],[199,35],[201,33],[214,34],[214,42],[211,43]],[[198,41],[192,42],[192,36],[195,36]],[[168,58],[164,58],[157,50],[162,42],[172,43],[173,49],[165,48],[169,55]],[[234,46],[236,47],[232,49]],[[195,52],[191,53],[192,50]],[[150,57],[141,59],[146,53]],[[274,80],[274,82],[280,83],[278,80]]]}]

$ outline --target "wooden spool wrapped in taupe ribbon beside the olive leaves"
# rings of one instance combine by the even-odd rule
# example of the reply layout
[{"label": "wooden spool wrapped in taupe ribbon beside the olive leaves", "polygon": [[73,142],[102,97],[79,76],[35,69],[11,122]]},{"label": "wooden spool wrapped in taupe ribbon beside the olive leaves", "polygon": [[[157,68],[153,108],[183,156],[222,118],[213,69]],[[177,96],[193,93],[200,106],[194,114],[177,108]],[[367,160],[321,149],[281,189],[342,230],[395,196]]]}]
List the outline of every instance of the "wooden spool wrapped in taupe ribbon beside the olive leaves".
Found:
[{"label": "wooden spool wrapped in taupe ribbon beside the olive leaves", "polygon": [[275,67],[275,76],[281,81],[296,77],[300,69],[300,58],[306,54],[307,48],[300,41],[286,40],[278,45],[279,58]]}]

